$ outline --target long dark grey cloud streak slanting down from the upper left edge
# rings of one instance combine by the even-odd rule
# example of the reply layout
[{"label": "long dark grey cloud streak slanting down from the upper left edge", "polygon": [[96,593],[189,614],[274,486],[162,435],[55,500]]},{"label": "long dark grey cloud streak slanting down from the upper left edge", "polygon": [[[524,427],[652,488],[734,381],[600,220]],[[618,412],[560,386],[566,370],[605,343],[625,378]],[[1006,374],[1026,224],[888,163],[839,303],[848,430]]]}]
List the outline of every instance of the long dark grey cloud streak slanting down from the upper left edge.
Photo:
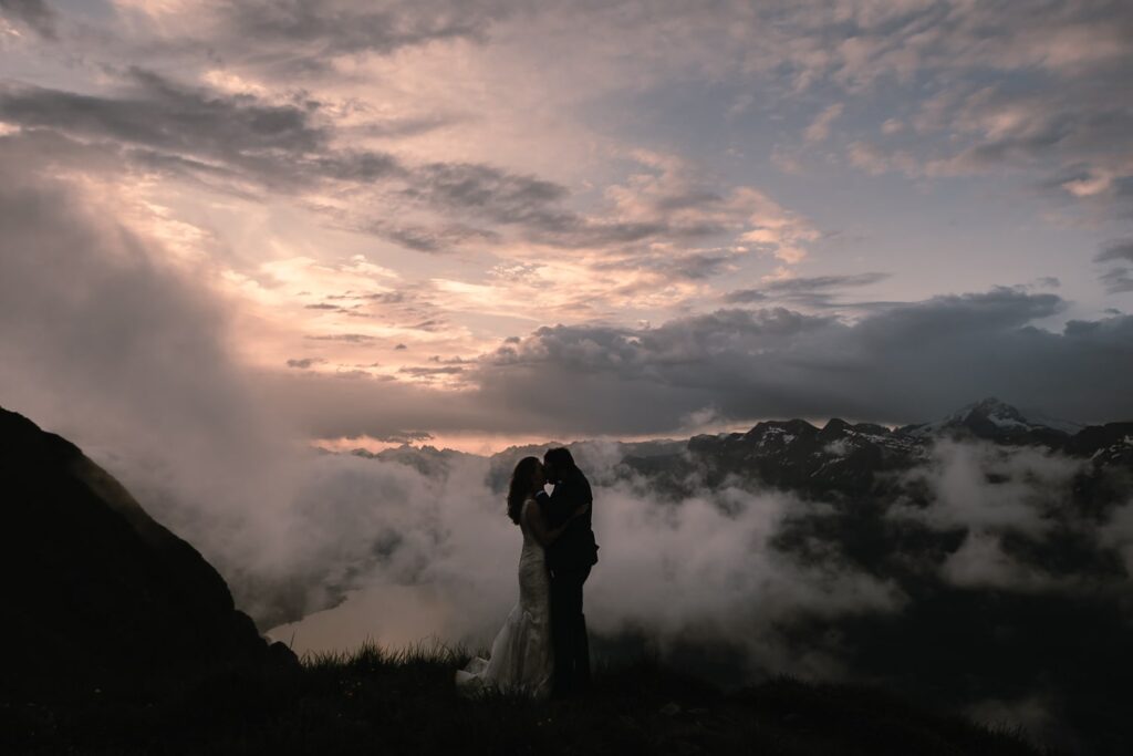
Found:
[{"label": "long dark grey cloud streak slanting down from the upper left edge", "polygon": [[[129,70],[126,85],[119,95],[96,96],[9,84],[0,91],[0,117],[24,127],[109,139],[122,145],[123,158],[150,169],[238,194],[306,193],[325,182],[348,184],[380,187],[389,197],[401,197],[402,204],[424,202],[435,211],[486,213],[500,223],[557,223],[555,212],[546,207],[565,189],[488,165],[409,168],[385,153],[335,148],[334,128],[315,101],[271,104],[248,94],[186,86],[138,68]],[[342,212],[317,204],[313,209],[330,220]],[[483,235],[384,219],[358,223],[349,214],[342,222],[423,250],[437,248],[440,239]]]}]

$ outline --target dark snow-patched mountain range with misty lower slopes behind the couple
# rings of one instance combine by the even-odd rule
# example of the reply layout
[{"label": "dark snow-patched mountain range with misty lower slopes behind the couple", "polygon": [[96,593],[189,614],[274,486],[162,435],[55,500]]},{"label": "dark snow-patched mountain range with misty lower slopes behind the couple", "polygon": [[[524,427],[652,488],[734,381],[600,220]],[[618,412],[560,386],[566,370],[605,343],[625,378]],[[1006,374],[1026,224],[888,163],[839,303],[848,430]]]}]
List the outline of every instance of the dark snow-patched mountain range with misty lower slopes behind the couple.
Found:
[{"label": "dark snow-patched mountain range with misty lower slopes behind the couple", "polygon": [[[1133,519],[1123,515],[1133,506],[1133,422],[1056,424],[988,398],[901,427],[768,421],[744,433],[566,445],[596,486],[596,508],[627,490],[671,507],[723,490],[748,492],[752,506],[760,492],[793,496],[769,544],[777,558],[870,576],[901,596],[895,612],[784,620],[778,630],[800,653],[829,651],[851,679],[934,705],[1029,712],[1074,751],[1125,753],[1133,688],[1117,670],[1133,670]],[[551,445],[492,456],[487,484],[502,492],[519,458]],[[355,453],[429,475],[468,457]],[[600,532],[598,541],[620,547]],[[742,683],[729,678],[742,654],[726,644],[690,637],[668,653]]]}]

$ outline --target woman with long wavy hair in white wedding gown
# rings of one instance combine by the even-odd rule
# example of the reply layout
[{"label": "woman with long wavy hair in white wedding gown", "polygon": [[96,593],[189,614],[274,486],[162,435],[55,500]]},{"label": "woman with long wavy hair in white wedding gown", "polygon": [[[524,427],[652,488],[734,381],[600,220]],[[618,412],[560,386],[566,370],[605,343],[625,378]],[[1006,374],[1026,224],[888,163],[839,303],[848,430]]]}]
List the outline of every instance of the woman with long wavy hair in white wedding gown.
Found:
[{"label": "woman with long wavy hair in white wedding gown", "polygon": [[[570,520],[551,528],[535,494],[543,491],[546,476],[536,457],[516,465],[508,489],[508,517],[523,534],[519,554],[519,601],[492,642],[489,659],[479,656],[457,671],[457,689],[475,695],[486,689],[534,698],[551,695],[554,655],[551,645],[551,578],[546,546],[562,535]],[[571,513],[583,515],[589,504]]]}]

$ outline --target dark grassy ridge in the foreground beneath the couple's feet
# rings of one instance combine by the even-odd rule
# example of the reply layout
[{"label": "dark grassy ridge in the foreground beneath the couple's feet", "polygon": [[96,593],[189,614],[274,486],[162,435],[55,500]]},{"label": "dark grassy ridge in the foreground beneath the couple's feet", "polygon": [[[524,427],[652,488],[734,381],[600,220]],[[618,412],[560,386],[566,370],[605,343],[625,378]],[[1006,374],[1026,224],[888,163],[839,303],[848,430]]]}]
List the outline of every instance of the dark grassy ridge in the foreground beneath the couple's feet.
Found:
[{"label": "dark grassy ridge in the foreground beneath the couple's feet", "polygon": [[1010,754],[1019,733],[917,710],[881,691],[781,679],[723,693],[641,660],[597,671],[586,699],[455,695],[468,655],[443,647],[307,657],[68,703],[0,704],[7,754]]}]

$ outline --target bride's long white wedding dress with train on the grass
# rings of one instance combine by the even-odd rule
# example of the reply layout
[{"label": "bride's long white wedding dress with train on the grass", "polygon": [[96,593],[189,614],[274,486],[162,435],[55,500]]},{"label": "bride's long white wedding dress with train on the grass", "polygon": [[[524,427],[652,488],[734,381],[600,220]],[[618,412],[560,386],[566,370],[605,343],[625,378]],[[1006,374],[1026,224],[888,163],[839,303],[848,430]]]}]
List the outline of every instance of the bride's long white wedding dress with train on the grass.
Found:
[{"label": "bride's long white wedding dress with train on the grass", "polygon": [[543,546],[527,527],[529,507],[523,502],[520,529],[523,551],[519,555],[519,602],[508,614],[495,640],[492,657],[472,659],[457,671],[457,690],[476,695],[484,690],[546,698],[551,695],[554,655],[551,649],[551,578]]}]

